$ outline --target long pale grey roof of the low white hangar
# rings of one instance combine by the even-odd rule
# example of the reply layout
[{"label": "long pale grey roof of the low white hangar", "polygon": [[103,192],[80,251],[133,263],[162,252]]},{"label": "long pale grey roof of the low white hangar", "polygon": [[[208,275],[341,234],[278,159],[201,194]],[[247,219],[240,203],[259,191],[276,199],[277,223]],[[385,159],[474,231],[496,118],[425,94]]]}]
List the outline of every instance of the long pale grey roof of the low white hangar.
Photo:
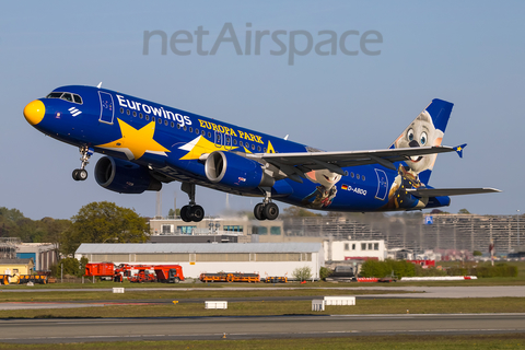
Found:
[{"label": "long pale grey roof of the low white hangar", "polygon": [[82,243],[75,254],[317,253],[320,243]]}]

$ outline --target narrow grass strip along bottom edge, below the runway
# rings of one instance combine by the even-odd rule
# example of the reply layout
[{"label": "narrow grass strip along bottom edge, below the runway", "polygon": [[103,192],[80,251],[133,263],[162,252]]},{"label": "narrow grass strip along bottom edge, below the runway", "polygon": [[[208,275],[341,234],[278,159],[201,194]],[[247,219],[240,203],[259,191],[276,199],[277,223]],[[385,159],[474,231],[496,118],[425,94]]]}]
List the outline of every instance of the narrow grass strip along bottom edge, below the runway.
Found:
[{"label": "narrow grass strip along bottom edge, below the runway", "polygon": [[250,339],[250,340],[192,340],[192,341],[122,341],[122,342],[92,342],[68,345],[8,345],[0,343],[0,349],[315,349],[315,350],[450,350],[450,349],[523,349],[525,347],[524,334],[500,334],[481,336],[377,336],[377,337],[348,337],[348,338],[303,338],[303,339]]}]

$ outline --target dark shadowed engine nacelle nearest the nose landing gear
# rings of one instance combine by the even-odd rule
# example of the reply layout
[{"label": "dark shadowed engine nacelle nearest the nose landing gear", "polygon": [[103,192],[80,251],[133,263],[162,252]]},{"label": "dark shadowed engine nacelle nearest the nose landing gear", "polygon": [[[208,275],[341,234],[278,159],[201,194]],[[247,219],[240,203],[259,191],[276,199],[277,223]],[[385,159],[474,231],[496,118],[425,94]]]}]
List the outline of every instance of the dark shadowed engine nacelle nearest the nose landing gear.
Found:
[{"label": "dark shadowed engine nacelle nearest the nose landing gear", "polygon": [[162,188],[161,182],[151,177],[145,167],[112,156],[96,162],[95,179],[102,187],[119,194],[142,194]]}]

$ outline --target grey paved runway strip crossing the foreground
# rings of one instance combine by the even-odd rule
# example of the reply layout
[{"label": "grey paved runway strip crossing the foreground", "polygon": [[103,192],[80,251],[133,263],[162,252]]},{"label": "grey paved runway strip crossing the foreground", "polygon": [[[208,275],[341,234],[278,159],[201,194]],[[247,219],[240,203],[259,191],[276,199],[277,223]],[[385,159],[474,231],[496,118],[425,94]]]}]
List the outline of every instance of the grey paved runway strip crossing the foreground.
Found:
[{"label": "grey paved runway strip crossing the foreground", "polygon": [[3,319],[0,342],[220,340],[525,331],[525,314]]}]

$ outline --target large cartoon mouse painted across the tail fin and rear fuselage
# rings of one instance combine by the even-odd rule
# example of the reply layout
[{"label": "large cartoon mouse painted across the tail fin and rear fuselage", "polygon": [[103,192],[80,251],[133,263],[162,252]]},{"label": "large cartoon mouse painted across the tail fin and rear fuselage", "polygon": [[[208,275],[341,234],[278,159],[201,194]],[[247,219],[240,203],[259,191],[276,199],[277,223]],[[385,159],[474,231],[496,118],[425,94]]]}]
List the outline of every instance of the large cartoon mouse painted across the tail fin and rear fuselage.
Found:
[{"label": "large cartoon mouse painted across the tail fin and rear fuselage", "polygon": [[[429,147],[440,145],[443,140],[443,131],[436,129],[432,117],[427,110],[408,126],[407,129],[394,141],[394,148]],[[398,175],[392,184],[388,194],[388,209],[415,208],[419,200],[407,196],[405,188],[419,188],[424,186],[419,180],[419,173],[432,170],[438,154],[411,156],[399,165]]]}]

